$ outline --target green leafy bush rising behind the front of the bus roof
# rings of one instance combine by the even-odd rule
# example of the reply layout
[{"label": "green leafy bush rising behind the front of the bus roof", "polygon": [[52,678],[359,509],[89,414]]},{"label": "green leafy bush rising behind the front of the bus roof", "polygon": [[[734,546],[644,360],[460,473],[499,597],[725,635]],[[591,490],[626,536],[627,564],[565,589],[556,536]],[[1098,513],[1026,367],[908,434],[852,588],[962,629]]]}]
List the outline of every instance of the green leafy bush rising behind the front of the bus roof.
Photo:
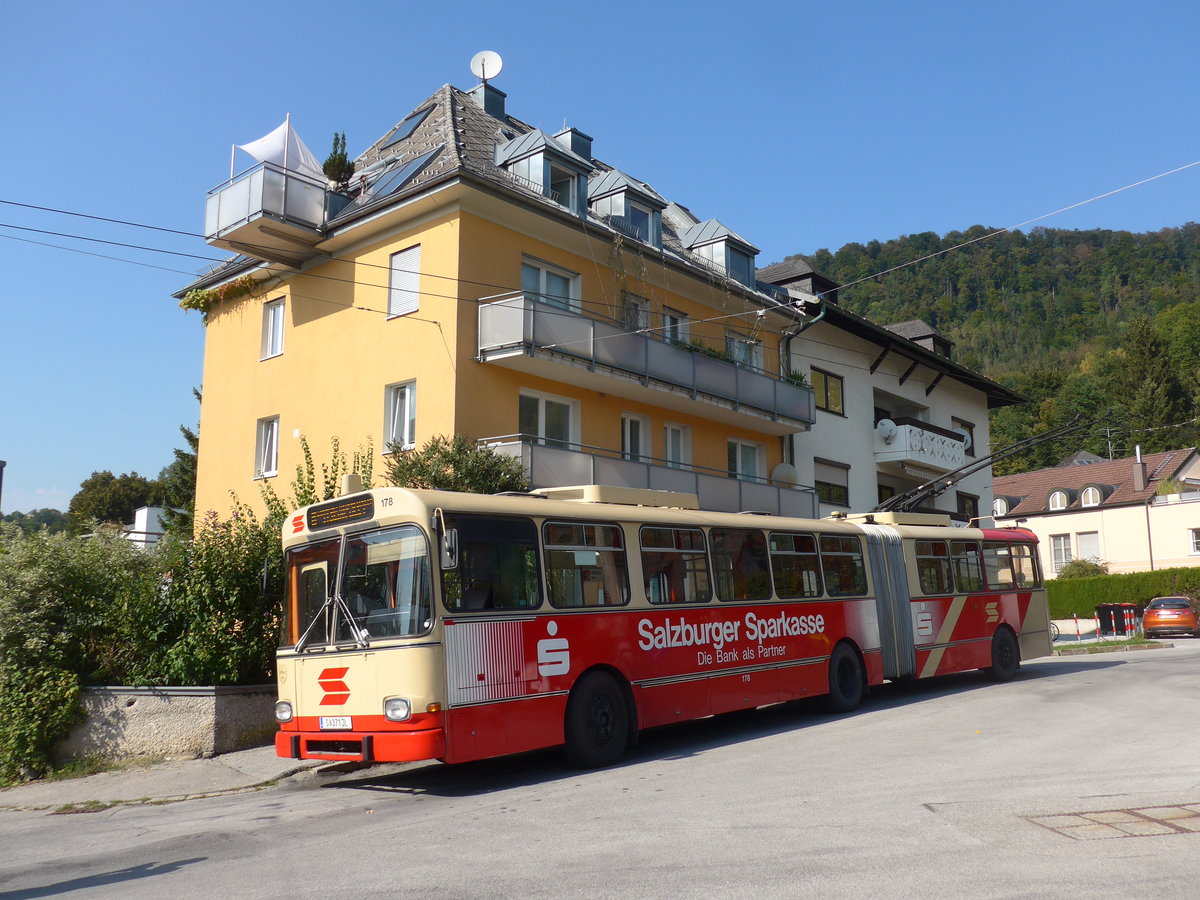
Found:
[{"label": "green leafy bush rising behind the front of the bus roof", "polygon": [[388,480],[397,487],[469,493],[526,491],[529,479],[521,460],[476,446],[464,434],[436,436],[420,450],[395,444],[388,458]]}]

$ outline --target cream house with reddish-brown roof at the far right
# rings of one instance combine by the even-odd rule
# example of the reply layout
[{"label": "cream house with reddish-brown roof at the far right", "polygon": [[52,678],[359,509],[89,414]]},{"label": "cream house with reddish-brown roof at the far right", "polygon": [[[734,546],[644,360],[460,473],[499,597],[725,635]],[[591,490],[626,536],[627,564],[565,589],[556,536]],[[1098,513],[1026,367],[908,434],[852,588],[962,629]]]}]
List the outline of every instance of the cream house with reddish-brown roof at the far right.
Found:
[{"label": "cream house with reddish-brown roof at the far right", "polygon": [[1048,577],[1072,559],[1111,572],[1200,564],[1200,455],[1193,448],[1061,466],[992,480],[1000,526],[1038,535]]}]

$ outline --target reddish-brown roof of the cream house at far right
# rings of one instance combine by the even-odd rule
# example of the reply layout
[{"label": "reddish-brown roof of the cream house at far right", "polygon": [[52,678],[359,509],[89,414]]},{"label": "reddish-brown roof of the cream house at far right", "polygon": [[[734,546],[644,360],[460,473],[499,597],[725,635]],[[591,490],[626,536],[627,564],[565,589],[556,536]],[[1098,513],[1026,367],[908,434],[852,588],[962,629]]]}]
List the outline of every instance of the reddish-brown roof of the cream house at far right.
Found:
[{"label": "reddish-brown roof of the cream house at far right", "polygon": [[[1078,512],[1085,487],[1100,488],[1100,505],[1128,506],[1145,503],[1158,492],[1162,481],[1174,478],[1195,456],[1194,448],[1164,450],[1159,454],[1142,454],[1146,466],[1146,486],[1134,490],[1134,457],[1102,460],[1087,464],[1055,466],[1049,469],[1022,472],[1016,475],[1000,475],[991,480],[992,493],[1009,502],[1008,515],[1016,516],[1063,515]],[[1069,457],[1073,458],[1073,457]],[[1050,511],[1048,504],[1054,491],[1066,491],[1069,500],[1066,510]]]}]

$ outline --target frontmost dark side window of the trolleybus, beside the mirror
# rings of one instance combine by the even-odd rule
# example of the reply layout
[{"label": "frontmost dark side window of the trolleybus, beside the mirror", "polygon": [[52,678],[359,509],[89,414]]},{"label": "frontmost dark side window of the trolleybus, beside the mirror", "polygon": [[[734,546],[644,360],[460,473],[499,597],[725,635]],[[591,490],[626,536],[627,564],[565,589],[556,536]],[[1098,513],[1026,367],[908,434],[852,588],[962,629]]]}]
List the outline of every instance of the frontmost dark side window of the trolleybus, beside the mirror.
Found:
[{"label": "frontmost dark side window of the trolleybus, beside the mirror", "polygon": [[532,610],[541,605],[533,520],[444,517],[446,528],[458,530],[458,566],[442,572],[442,599],[448,610]]}]

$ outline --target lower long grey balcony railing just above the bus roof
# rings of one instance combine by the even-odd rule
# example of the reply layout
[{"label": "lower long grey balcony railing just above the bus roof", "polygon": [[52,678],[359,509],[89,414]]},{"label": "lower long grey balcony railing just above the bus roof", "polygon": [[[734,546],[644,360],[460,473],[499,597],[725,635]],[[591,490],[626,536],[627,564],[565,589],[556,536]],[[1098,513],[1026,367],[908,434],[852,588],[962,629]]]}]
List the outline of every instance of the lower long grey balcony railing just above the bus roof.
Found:
[{"label": "lower long grey balcony railing just above the bus roof", "polygon": [[536,438],[505,434],[479,442],[497,452],[520,458],[529,473],[530,487],[612,485],[650,491],[694,493],[700,508],[716,512],[769,512],[778,516],[815,518],[816,492],[811,487],[779,487],[766,481],[746,481],[695,466],[674,468],[664,460],[625,460],[601,448],[577,444],[553,446]]}]

